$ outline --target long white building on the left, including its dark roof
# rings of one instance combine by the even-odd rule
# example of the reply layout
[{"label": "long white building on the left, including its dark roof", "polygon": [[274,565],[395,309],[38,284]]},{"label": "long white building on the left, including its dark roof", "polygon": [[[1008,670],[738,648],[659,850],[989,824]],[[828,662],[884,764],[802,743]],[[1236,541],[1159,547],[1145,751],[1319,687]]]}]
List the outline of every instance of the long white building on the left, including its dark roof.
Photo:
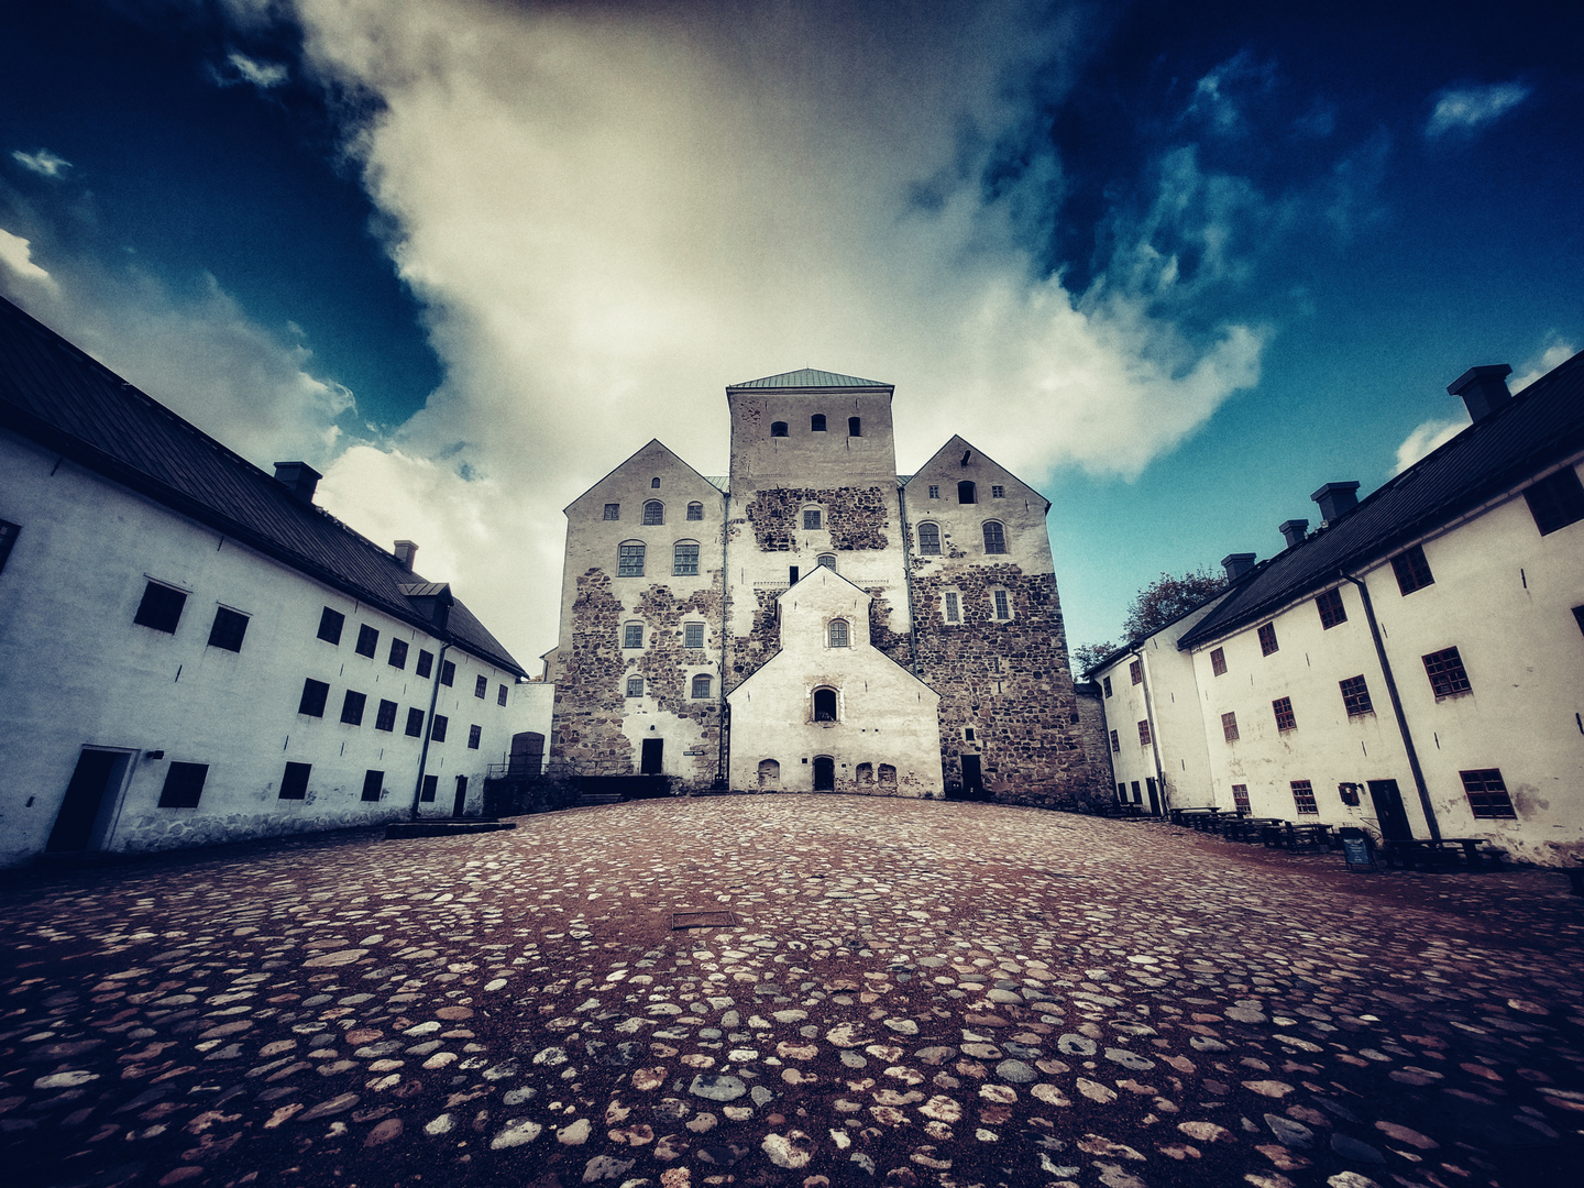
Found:
[{"label": "long white building on the left, including its dark roof", "polygon": [[477,811],[523,670],[317,480],[0,301],[0,863]]}]

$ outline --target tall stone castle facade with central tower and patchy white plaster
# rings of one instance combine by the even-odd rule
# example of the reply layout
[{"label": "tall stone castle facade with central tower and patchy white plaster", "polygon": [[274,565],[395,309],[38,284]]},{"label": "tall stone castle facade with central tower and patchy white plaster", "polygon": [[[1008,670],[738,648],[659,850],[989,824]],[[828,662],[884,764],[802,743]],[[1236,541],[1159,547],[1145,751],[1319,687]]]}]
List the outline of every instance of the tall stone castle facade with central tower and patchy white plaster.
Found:
[{"label": "tall stone castle facade with central tower and patchy white plaster", "polygon": [[553,763],[687,790],[1107,790],[1049,501],[961,437],[898,475],[892,393],[733,385],[729,478],[651,440],[565,508]]}]

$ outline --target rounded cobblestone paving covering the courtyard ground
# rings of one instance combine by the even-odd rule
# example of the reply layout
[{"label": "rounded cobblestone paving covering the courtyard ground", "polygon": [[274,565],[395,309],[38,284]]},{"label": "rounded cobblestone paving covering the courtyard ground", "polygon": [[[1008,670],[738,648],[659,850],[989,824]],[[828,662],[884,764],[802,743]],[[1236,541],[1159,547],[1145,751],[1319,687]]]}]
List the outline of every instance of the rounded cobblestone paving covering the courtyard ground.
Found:
[{"label": "rounded cobblestone paving covering the courtyard ground", "polygon": [[0,906],[11,1183],[1579,1182],[1557,874],[737,797]]}]

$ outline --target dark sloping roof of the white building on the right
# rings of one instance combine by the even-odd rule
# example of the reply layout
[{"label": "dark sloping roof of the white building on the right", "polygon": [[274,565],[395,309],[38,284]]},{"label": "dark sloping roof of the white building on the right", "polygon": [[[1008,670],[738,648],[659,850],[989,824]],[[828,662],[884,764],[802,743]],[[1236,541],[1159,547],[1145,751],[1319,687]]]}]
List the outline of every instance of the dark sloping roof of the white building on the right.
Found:
[{"label": "dark sloping roof of the white building on the right", "polygon": [[1357,573],[1584,451],[1584,352],[1391,478],[1334,524],[1266,561],[1188,630],[1193,648]]}]

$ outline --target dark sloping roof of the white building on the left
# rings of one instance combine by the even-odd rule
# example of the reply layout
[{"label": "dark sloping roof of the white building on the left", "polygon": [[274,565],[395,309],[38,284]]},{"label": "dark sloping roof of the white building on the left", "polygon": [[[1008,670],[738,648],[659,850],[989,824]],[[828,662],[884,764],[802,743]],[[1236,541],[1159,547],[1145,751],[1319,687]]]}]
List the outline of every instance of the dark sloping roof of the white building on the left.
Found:
[{"label": "dark sloping roof of the white building on the left", "polygon": [[523,667],[461,604],[436,632],[423,578],[0,298],[0,425],[482,661]]}]

